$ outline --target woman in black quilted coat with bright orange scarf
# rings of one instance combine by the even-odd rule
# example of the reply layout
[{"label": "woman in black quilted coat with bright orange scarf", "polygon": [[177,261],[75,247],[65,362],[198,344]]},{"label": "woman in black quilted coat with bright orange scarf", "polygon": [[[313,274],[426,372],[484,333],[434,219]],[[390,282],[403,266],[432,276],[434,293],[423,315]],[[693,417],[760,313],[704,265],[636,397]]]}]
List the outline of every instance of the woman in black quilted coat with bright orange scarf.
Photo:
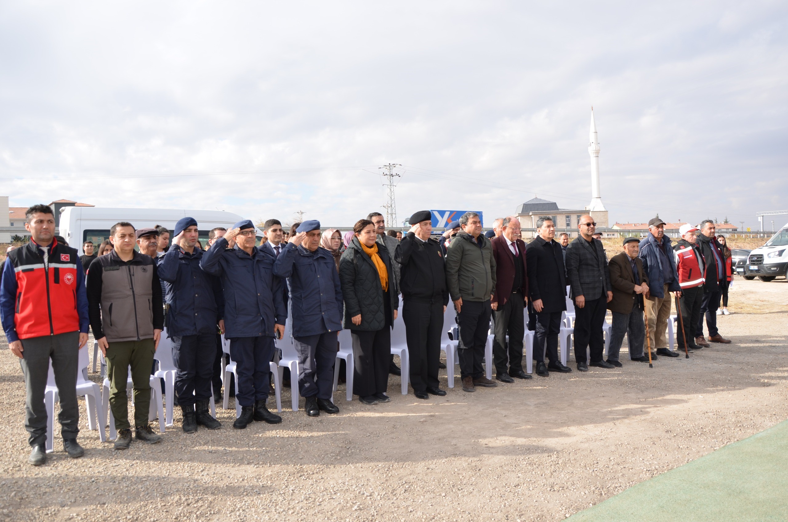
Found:
[{"label": "woman in black quilted coat with bright orange scarf", "polygon": [[365,405],[388,402],[391,329],[400,299],[393,290],[392,260],[378,248],[373,222],[360,219],[340,258],[344,327],[353,337],[353,393]]}]

